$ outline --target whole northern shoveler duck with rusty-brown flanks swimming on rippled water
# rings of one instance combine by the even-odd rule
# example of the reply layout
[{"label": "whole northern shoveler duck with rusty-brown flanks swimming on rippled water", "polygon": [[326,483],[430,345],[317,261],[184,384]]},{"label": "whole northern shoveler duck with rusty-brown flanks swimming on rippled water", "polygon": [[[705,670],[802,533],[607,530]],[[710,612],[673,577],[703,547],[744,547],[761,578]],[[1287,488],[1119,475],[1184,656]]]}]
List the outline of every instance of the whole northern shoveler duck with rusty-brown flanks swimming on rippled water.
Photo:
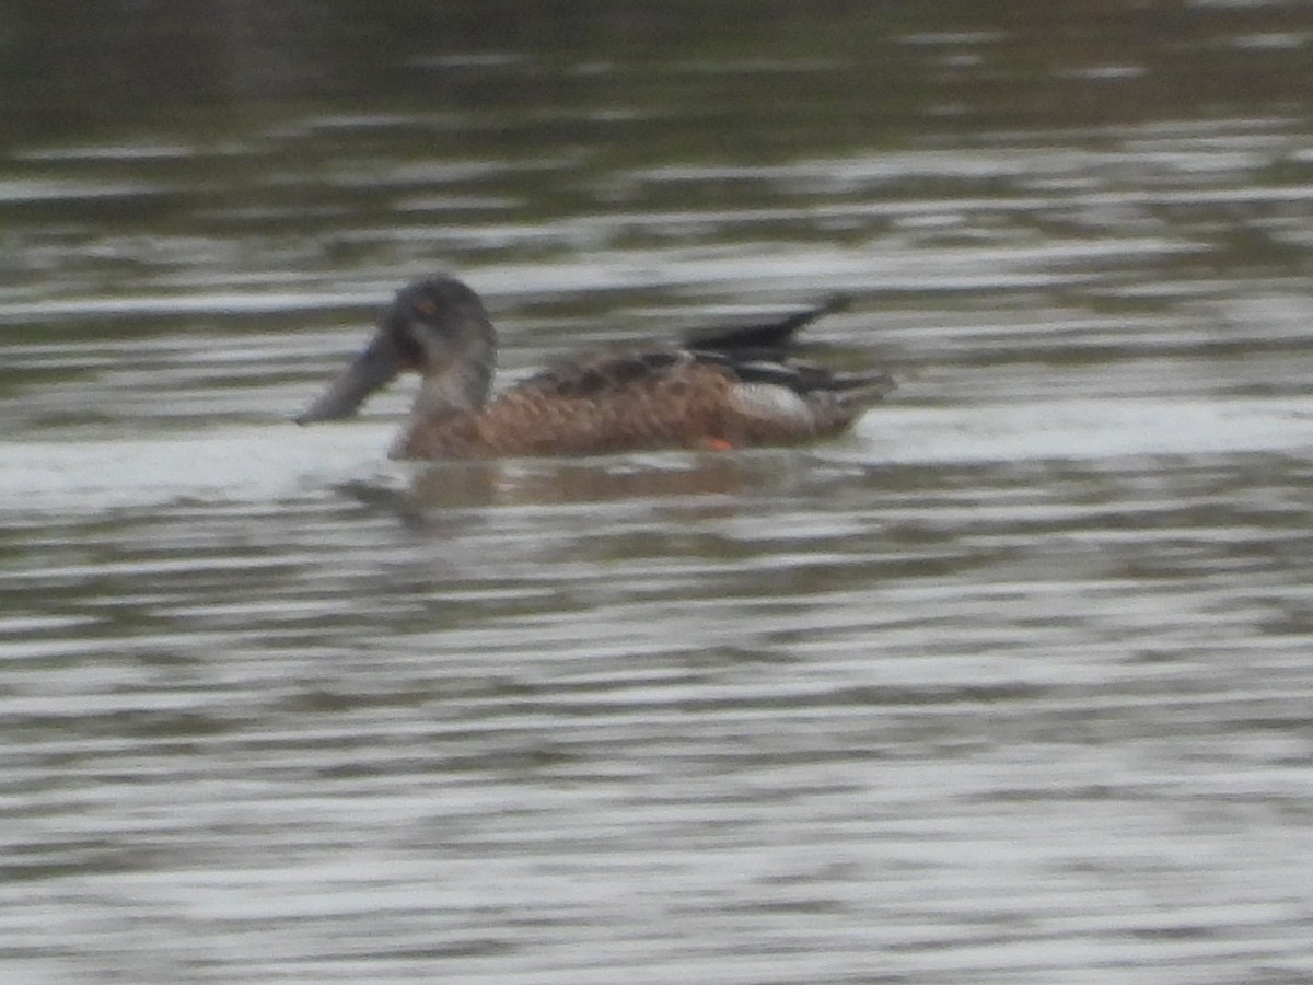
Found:
[{"label": "whole northern shoveler duck with rusty-brown flanks swimming on rippled water", "polygon": [[572,456],[783,445],[838,435],[893,389],[885,373],[789,359],[834,298],[779,322],[683,345],[590,353],[490,399],[496,335],[483,302],[446,274],[398,292],[378,332],[297,422],[351,416],[403,370],[423,377],[393,458]]}]

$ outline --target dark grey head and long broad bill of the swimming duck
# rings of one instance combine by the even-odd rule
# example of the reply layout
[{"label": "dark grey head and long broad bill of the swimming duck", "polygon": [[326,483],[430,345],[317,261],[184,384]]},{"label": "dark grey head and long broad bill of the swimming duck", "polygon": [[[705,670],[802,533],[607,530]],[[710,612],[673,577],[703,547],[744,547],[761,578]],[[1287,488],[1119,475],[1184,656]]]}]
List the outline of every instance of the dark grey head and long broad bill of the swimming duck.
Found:
[{"label": "dark grey head and long broad bill of the swimming duck", "polygon": [[407,370],[424,380],[416,414],[473,410],[487,398],[495,359],[492,323],[478,294],[454,277],[427,277],[397,292],[365,351],[297,423],[349,418]]}]

